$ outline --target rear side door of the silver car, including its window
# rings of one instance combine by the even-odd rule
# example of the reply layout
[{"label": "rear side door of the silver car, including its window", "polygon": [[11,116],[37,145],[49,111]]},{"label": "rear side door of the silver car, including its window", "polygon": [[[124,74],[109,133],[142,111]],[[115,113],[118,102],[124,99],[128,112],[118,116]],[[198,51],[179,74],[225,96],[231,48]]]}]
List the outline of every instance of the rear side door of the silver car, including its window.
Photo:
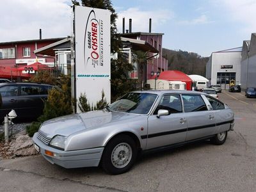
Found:
[{"label": "rear side door of the silver car, including its window", "polygon": [[188,132],[186,141],[204,138],[216,131],[216,117],[200,94],[182,94]]}]

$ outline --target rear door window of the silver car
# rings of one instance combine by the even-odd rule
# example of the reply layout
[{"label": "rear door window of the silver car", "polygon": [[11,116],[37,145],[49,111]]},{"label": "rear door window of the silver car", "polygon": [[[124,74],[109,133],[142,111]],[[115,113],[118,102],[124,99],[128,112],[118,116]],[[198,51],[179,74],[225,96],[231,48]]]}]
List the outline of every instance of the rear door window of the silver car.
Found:
[{"label": "rear door window of the silver car", "polygon": [[182,95],[182,99],[185,112],[208,110],[201,95]]}]

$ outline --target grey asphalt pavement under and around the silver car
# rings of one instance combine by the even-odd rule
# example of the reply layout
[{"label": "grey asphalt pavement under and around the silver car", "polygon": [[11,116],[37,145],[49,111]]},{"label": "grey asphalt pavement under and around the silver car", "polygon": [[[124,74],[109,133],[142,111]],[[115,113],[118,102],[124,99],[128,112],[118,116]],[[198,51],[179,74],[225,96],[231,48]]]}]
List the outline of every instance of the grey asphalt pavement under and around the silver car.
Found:
[{"label": "grey asphalt pavement under and around the silver car", "polygon": [[132,170],[65,169],[41,156],[0,161],[0,191],[255,191],[256,98],[223,90],[235,131],[220,146],[208,141],[142,156]]}]

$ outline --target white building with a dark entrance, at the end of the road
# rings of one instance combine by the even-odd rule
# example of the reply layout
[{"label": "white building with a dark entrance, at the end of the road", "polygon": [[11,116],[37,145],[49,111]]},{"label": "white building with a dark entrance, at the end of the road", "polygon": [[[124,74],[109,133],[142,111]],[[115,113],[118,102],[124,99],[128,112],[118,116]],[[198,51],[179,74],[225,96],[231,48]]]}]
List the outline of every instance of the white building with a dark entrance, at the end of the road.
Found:
[{"label": "white building with a dark entrance, at the end of the road", "polygon": [[228,88],[230,80],[241,83],[241,53],[242,47],[212,52],[206,64],[206,78],[209,84],[221,84]]}]

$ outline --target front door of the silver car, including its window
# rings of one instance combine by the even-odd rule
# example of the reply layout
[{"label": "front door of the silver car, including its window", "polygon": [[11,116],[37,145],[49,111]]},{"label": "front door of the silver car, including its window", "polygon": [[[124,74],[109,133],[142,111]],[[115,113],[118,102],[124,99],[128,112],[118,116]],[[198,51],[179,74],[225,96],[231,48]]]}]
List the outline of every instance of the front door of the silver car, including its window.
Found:
[{"label": "front door of the silver car, including its window", "polygon": [[[168,110],[168,115],[157,118],[159,109]],[[182,113],[180,95],[163,95],[154,113],[148,116],[147,148],[183,142],[186,132],[187,122]]]}]

